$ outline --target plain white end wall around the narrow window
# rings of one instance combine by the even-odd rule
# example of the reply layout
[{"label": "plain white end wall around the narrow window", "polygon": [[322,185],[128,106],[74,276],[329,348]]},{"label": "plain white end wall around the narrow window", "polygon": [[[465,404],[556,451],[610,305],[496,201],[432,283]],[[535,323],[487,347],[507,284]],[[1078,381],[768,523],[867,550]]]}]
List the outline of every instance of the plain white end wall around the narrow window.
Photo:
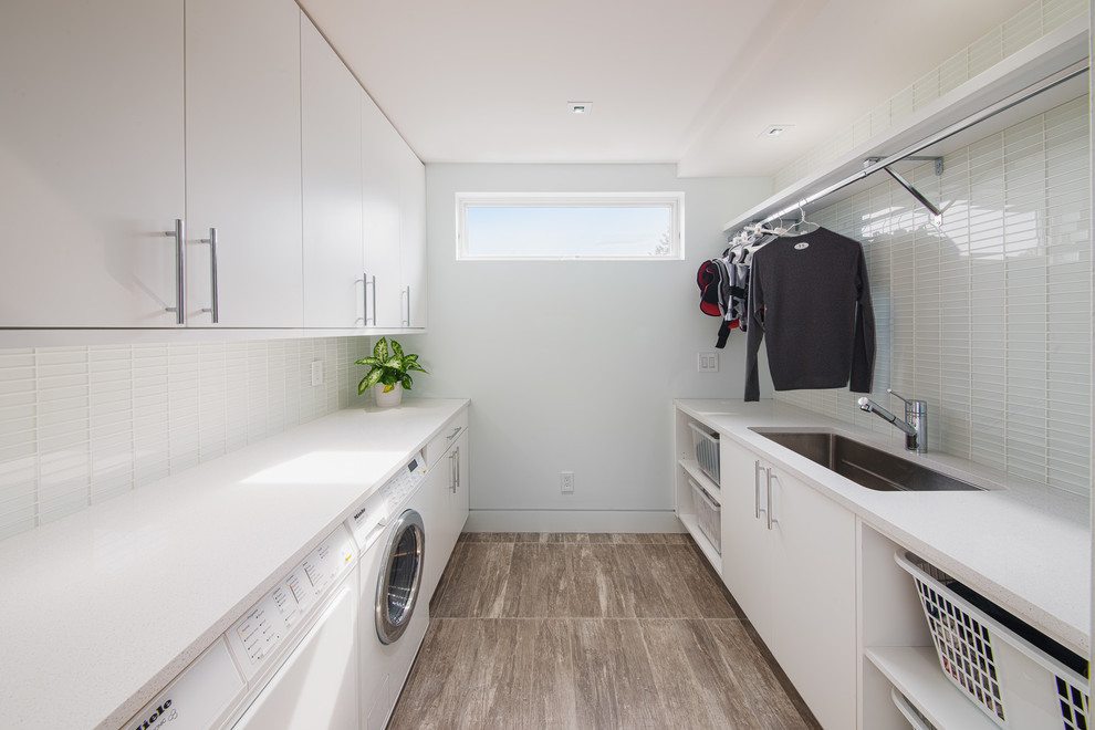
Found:
[{"label": "plain white end wall around the narrow window", "polygon": [[[770,181],[678,179],[671,165],[428,165],[426,179],[429,333],[405,344],[431,372],[416,395],[472,399],[471,525],[672,529],[671,400],[740,398],[743,383],[738,333],[718,374],[696,372],[718,330],[696,270]],[[457,262],[455,194],[518,190],[684,190],[687,259]]]}]

